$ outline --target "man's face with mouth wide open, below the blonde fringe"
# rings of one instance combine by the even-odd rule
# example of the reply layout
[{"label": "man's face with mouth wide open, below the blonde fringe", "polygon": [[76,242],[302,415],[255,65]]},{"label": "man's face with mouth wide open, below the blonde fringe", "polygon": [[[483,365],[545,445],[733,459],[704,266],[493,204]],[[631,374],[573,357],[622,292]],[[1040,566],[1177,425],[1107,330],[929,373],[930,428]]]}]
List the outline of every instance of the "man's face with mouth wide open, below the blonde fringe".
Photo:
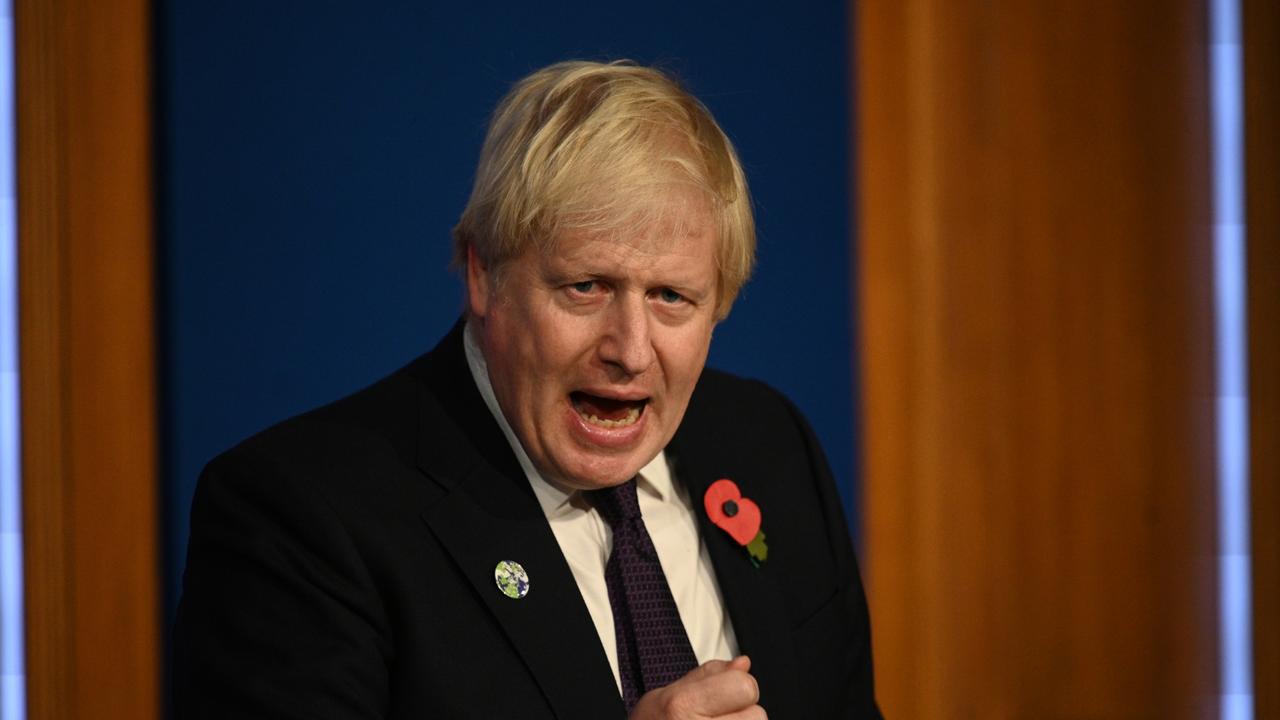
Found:
[{"label": "man's face with mouth wide open, below the blonde fringe", "polygon": [[[645,233],[655,236],[660,233]],[[568,232],[498,275],[472,255],[489,378],[534,465],[579,489],[634,477],[675,434],[716,325],[716,231]]]}]

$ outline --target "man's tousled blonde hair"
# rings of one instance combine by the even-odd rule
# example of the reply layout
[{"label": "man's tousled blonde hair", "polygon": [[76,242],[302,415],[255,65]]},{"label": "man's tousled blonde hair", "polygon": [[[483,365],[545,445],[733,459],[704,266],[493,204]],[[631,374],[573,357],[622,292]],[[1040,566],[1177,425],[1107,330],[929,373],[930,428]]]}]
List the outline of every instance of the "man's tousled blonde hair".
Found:
[{"label": "man's tousled blonde hair", "polygon": [[[467,249],[490,269],[559,233],[687,232],[687,197],[717,229],[717,319],[755,261],[746,176],[710,111],[666,73],[622,60],[543,68],[503,97],[489,122],[471,199],[453,228],[453,263]],[[705,202],[701,202],[705,200]]]}]

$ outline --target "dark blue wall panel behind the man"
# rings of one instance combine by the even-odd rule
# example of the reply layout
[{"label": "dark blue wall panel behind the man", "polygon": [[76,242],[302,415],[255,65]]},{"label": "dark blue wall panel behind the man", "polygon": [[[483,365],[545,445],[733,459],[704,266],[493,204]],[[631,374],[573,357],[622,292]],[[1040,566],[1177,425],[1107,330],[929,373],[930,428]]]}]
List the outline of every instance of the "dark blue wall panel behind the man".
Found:
[{"label": "dark blue wall panel behind the man", "polygon": [[737,143],[759,272],[712,364],[800,405],[847,503],[845,3],[540,5],[159,4],[170,607],[201,466],[394,370],[454,322],[449,228],[486,115],[513,81],[568,58],[676,70]]}]

